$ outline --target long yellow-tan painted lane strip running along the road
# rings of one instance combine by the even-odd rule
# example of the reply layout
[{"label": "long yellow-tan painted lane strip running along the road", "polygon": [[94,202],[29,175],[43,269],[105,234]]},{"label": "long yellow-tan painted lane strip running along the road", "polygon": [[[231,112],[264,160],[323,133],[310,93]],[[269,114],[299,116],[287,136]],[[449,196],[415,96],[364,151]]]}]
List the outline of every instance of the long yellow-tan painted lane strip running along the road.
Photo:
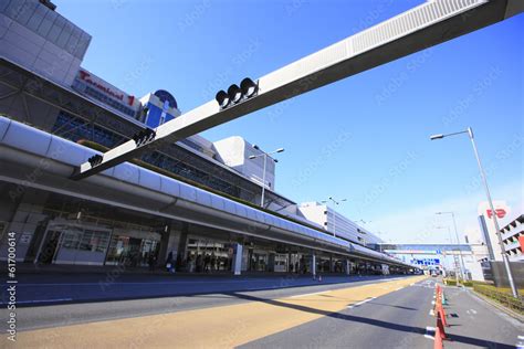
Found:
[{"label": "long yellow-tan painted lane strip running along the road", "polygon": [[[421,281],[426,276],[416,277]],[[379,297],[413,277],[302,297],[97,321],[18,334],[21,348],[231,348]],[[389,286],[385,289],[385,286]]]}]

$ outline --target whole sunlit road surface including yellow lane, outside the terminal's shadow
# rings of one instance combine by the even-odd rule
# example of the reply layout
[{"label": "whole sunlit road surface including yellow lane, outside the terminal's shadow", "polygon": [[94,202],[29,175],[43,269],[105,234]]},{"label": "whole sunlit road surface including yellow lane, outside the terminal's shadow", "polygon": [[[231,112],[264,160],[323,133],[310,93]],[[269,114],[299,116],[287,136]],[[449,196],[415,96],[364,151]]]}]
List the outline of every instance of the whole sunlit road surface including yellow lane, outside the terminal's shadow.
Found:
[{"label": "whole sunlit road surface including yellow lane, outside the terminal's shadow", "polygon": [[[274,285],[274,281],[265,282]],[[301,281],[307,282],[307,286],[277,289],[19,308],[18,346],[433,347],[433,278],[314,285]],[[255,286],[262,284],[258,279]],[[524,341],[522,322],[468,290],[446,287],[444,292],[451,325],[446,348],[515,348]]]}]

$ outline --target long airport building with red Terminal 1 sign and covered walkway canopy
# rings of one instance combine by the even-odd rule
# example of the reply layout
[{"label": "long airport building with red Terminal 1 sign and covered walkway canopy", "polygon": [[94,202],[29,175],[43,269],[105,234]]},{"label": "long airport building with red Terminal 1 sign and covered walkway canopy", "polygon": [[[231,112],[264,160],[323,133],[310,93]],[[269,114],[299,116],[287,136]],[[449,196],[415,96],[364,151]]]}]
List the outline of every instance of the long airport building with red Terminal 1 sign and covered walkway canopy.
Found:
[{"label": "long airport building with red Terminal 1 sign and covered walkway canopy", "polygon": [[250,159],[262,150],[241,137],[195,135],[71,180],[88,157],[181,114],[165,89],[136,97],[82,67],[90,42],[51,1],[0,3],[0,260],[15,232],[17,260],[39,265],[412,269],[349,219],[277,193],[273,161],[263,173],[262,157]]}]

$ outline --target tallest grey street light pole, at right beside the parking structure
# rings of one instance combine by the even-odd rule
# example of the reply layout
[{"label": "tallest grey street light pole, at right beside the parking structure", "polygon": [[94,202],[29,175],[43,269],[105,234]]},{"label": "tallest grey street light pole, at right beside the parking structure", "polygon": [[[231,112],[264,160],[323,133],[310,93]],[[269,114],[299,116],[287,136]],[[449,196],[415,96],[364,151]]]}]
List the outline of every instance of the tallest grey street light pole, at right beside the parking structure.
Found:
[{"label": "tallest grey street light pole, at right beside the parking structure", "polygon": [[491,200],[491,193],[490,193],[490,188],[488,187],[488,179],[485,177],[484,168],[482,167],[482,162],[479,156],[479,150],[476,149],[476,144],[475,144],[475,138],[473,137],[473,129],[471,127],[468,127],[468,129],[460,131],[460,133],[453,133],[453,134],[448,134],[448,135],[433,135],[430,137],[431,140],[434,139],[442,139],[444,137],[449,136],[455,136],[455,135],[461,135],[461,134],[468,134],[471,140],[471,145],[473,146],[473,152],[475,154],[476,158],[476,163],[479,165],[479,171],[482,177],[482,181],[484,182],[484,190],[485,190],[485,195],[488,198],[488,203],[490,204],[490,209],[492,212],[492,218],[493,218],[493,225],[495,226],[495,234],[496,237],[499,237],[499,245],[501,246],[501,253],[502,253],[502,260],[504,261],[504,267],[507,273],[507,281],[510,282],[511,290],[513,293],[513,296],[516,298],[518,297],[518,290],[516,289],[515,282],[513,281],[513,275],[511,273],[511,267],[510,267],[510,261],[507,258],[507,255],[504,251],[504,243],[502,242],[502,236],[501,236],[501,229],[499,226],[499,220],[495,214],[495,208],[493,207],[493,201]]}]

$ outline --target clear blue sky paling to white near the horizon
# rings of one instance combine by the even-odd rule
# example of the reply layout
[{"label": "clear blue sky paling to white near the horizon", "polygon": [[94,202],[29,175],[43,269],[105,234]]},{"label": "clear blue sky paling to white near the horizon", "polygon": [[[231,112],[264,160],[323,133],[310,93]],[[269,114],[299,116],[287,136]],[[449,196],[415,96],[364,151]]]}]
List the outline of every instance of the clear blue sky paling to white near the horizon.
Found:
[{"label": "clear blue sky paling to white near the horizon", "polygon": [[[421,0],[53,0],[93,39],[83,67],[135,96],[169,91],[182,113],[399,14]],[[283,147],[276,191],[336,209],[386,241],[478,234],[485,200],[472,127],[494,200],[524,212],[524,15],[363,72],[202,134]],[[462,237],[461,237],[462,239]]]}]

